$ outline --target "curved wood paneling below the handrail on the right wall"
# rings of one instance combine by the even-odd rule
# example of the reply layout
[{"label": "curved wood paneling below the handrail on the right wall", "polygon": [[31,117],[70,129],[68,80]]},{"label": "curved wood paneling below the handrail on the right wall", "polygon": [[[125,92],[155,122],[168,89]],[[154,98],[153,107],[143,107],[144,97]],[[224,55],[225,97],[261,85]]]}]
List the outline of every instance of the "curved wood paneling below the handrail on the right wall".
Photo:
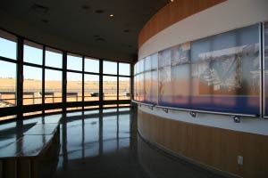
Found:
[{"label": "curved wood paneling below the handrail on the right wall", "polygon": [[[156,117],[138,110],[138,131],[181,156],[242,177],[268,177],[268,136]],[[238,156],[244,165],[238,165]]]}]

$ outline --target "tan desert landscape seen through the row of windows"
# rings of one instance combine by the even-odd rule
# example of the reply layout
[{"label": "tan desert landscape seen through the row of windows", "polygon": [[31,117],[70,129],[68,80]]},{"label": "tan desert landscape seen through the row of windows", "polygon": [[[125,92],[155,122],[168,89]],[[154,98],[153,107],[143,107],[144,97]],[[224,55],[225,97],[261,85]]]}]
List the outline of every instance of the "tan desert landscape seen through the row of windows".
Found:
[{"label": "tan desert landscape seen through the row of windows", "polygon": [[[0,108],[16,105],[16,80],[0,78]],[[104,100],[116,100],[116,81],[104,81]],[[98,101],[98,81],[85,81],[84,101]],[[119,99],[130,99],[130,81],[119,81]],[[40,104],[42,101],[42,82],[26,79],[23,82],[23,105]],[[82,82],[67,82],[67,101],[82,101]],[[46,81],[45,103],[62,102],[62,82]]]}]

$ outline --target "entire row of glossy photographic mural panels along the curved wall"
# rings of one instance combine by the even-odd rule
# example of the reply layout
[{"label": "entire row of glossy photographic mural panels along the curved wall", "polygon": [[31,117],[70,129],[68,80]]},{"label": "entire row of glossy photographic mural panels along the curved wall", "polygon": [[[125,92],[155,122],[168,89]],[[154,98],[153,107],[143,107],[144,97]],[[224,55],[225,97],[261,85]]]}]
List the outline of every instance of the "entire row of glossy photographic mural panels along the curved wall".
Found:
[{"label": "entire row of glossy photographic mural panels along the curved wall", "polygon": [[[259,28],[260,25],[255,24],[208,36],[138,61],[136,100],[185,109],[258,115],[261,76]],[[267,69],[267,22],[264,28]],[[265,77],[266,85],[268,89],[268,75]],[[265,90],[265,95],[268,96],[268,90]],[[265,102],[268,104],[268,98]],[[267,112],[268,109],[265,110]]]}]

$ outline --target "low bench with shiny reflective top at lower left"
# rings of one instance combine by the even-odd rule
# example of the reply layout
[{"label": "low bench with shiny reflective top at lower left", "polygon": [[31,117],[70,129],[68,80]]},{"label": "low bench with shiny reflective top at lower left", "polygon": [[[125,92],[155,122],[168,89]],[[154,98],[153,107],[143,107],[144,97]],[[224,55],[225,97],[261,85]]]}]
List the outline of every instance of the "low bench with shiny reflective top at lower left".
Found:
[{"label": "low bench with shiny reflective top at lower left", "polygon": [[55,152],[52,145],[59,145],[59,120],[37,122],[20,138],[0,148],[0,178],[38,177],[40,158],[52,158]]}]

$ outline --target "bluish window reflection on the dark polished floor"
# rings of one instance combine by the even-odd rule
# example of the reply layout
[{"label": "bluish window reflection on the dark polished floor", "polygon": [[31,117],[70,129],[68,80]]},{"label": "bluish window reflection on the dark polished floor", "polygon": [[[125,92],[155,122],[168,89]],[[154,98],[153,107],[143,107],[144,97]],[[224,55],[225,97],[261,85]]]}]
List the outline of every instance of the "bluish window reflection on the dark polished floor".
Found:
[{"label": "bluish window reflection on the dark polished floor", "polygon": [[[130,147],[130,109],[104,109],[72,112],[61,124],[63,162],[94,158]],[[65,159],[66,158],[66,159]],[[64,160],[65,159],[65,160]],[[61,160],[61,158],[60,158]]]}]

